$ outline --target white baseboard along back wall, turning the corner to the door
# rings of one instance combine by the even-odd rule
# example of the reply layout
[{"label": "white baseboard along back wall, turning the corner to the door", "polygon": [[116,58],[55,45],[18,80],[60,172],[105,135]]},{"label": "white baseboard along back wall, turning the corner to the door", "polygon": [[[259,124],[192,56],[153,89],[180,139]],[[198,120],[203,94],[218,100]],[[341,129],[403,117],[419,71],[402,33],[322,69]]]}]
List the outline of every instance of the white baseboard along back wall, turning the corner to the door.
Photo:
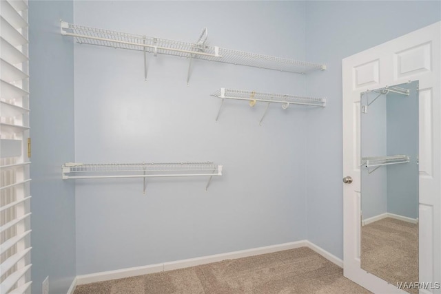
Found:
[{"label": "white baseboard along back wall, turning the corner to the door", "polygon": [[[115,271],[103,271],[101,273],[91,273],[89,275],[76,276],[75,283],[78,285],[90,284],[94,282],[101,282],[107,280],[121,279],[123,277],[134,277],[136,275],[146,275],[148,273],[158,273],[161,271],[172,271],[174,269],[184,269],[189,266],[198,266],[201,264],[209,264],[212,262],[220,262],[222,260],[234,260],[236,258],[246,258],[248,256],[274,253],[277,251],[284,251],[289,249],[296,249],[303,246],[307,246],[310,249],[316,251],[318,254],[325,257],[327,260],[334,262],[338,266],[343,266],[343,261],[337,258],[335,255],[325,251],[324,249],[316,246],[308,240],[301,240],[297,242],[289,242],[278,245],[258,247],[254,249],[247,249],[241,251],[234,251],[229,253],[221,253],[215,255],[207,255],[200,258],[189,258],[187,260],[177,260],[174,262],[164,262],[161,264],[151,264],[147,266],[137,266],[128,269],[119,269]],[[70,293],[68,293],[70,294]]]}]

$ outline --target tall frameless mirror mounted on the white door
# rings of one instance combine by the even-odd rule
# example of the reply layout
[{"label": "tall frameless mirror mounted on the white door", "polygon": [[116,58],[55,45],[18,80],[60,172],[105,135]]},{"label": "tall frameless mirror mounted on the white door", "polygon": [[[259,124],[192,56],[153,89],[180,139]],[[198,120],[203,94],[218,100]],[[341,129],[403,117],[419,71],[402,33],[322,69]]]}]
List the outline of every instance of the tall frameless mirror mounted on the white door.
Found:
[{"label": "tall frameless mirror mounted on the white door", "polygon": [[415,283],[418,81],[363,92],[361,112],[361,268],[393,285]]}]

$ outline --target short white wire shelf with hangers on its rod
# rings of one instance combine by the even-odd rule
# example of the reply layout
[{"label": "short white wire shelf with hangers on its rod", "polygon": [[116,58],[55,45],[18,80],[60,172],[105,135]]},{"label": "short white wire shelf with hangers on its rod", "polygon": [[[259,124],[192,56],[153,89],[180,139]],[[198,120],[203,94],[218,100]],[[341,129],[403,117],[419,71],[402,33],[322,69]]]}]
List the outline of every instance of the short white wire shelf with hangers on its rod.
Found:
[{"label": "short white wire shelf with hangers on its rod", "polygon": [[296,96],[290,94],[271,94],[271,93],[263,93],[263,92],[248,91],[248,90],[231,90],[231,89],[220,88],[216,90],[216,92],[214,92],[211,96],[222,99],[222,103],[220,104],[218,115],[216,116],[216,121],[219,118],[220,110],[222,109],[223,101],[225,99],[249,101],[250,107],[254,107],[254,105],[257,102],[267,103],[267,107],[265,108],[265,112],[262,118],[260,118],[259,124],[262,123],[262,120],[267,112],[268,106],[271,103],[281,103],[283,104],[282,105],[283,109],[287,109],[291,104],[326,107],[326,98],[314,98],[314,97]]}]

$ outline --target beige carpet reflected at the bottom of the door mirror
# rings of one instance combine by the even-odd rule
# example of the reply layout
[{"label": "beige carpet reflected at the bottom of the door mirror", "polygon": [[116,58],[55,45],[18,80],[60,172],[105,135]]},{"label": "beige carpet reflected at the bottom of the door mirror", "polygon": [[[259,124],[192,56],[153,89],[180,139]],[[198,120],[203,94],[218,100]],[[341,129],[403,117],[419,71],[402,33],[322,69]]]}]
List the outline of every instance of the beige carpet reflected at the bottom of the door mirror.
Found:
[{"label": "beige carpet reflected at the bottom of the door mirror", "polygon": [[418,224],[383,218],[362,226],[361,268],[393,285],[418,282]]}]

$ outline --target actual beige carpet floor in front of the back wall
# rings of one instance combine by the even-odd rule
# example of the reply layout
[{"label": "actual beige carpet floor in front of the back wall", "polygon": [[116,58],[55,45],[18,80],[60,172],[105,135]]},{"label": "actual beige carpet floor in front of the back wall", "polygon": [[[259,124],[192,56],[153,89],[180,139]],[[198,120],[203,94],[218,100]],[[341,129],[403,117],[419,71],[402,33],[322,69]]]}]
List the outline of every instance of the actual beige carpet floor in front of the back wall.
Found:
[{"label": "actual beige carpet floor in front of the back wall", "polygon": [[370,293],[307,247],[76,287],[74,294]]}]

